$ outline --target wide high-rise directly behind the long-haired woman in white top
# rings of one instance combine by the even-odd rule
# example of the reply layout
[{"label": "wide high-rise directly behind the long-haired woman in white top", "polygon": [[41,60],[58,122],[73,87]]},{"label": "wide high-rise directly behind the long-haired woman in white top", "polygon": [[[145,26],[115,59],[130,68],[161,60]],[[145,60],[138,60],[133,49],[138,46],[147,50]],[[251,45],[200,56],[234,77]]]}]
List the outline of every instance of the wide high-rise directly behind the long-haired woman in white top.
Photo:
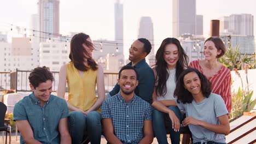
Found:
[{"label": "wide high-rise directly behind the long-haired woman in white top", "polygon": [[173,0],[172,1],[172,32],[173,37],[182,34],[196,34],[196,1]]}]

